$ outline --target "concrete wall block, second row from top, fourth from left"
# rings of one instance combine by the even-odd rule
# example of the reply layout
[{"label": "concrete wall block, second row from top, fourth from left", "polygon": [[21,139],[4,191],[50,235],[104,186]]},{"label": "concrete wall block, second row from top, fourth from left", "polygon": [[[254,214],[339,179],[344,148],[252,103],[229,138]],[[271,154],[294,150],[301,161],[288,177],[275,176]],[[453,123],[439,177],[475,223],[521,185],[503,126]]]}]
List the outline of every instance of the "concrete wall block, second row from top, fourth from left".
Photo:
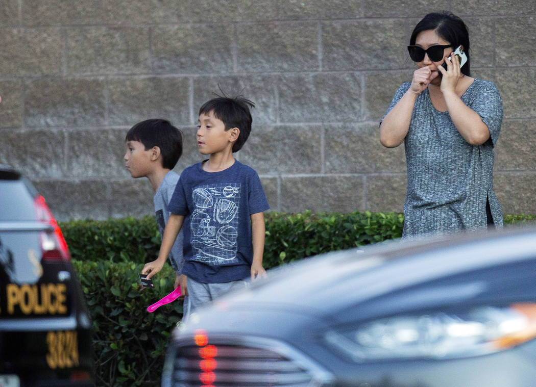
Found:
[{"label": "concrete wall block, second row from top, fourth from left", "polygon": [[318,27],[304,22],[237,25],[239,71],[318,70]]}]

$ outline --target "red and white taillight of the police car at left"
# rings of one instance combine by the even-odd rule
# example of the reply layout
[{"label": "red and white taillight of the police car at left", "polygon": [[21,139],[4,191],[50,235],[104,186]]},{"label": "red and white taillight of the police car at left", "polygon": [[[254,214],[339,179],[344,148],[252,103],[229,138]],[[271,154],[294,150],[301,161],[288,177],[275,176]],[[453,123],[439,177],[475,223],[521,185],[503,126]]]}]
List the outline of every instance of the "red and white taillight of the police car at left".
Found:
[{"label": "red and white taillight of the police car at left", "polygon": [[71,255],[67,242],[63,237],[62,230],[58,226],[58,222],[50,212],[47,202],[43,196],[38,195],[34,200],[35,211],[39,221],[52,226],[54,231],[41,232],[41,250],[43,260],[70,260]]}]

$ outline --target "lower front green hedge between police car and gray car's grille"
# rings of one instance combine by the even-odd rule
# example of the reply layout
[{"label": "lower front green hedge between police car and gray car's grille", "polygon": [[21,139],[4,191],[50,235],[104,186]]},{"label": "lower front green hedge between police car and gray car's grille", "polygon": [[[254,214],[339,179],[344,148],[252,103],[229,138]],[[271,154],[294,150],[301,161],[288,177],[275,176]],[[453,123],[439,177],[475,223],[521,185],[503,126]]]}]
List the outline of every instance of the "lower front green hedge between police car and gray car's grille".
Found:
[{"label": "lower front green hedge between police car and gray car's grille", "polygon": [[95,382],[99,387],[160,385],[169,335],[182,317],[182,302],[147,306],[171,292],[175,273],[169,265],[154,277],[155,289],[141,289],[143,264],[76,261],[93,320]]}]

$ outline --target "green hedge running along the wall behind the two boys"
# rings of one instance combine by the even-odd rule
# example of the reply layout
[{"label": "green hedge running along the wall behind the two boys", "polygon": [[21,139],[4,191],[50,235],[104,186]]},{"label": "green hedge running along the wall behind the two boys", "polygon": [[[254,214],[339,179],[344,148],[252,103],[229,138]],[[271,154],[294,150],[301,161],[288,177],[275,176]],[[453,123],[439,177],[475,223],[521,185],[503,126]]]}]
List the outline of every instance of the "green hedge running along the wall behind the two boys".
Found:
[{"label": "green hedge running along the wall behind the two boys", "polygon": [[[403,214],[267,213],[264,267],[323,252],[398,238]],[[144,263],[156,259],[160,234],[154,216],[59,224],[73,259]]]}]

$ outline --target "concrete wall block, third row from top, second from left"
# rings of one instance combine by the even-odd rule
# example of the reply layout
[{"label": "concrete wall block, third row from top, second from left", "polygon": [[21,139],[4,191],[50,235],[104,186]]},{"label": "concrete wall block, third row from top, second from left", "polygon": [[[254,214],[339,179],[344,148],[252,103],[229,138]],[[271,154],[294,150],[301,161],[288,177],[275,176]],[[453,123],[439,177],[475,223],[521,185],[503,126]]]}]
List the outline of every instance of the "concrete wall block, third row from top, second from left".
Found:
[{"label": "concrete wall block, third row from top, second from left", "polygon": [[99,79],[41,78],[29,81],[26,126],[100,126],[105,122],[104,83]]}]

